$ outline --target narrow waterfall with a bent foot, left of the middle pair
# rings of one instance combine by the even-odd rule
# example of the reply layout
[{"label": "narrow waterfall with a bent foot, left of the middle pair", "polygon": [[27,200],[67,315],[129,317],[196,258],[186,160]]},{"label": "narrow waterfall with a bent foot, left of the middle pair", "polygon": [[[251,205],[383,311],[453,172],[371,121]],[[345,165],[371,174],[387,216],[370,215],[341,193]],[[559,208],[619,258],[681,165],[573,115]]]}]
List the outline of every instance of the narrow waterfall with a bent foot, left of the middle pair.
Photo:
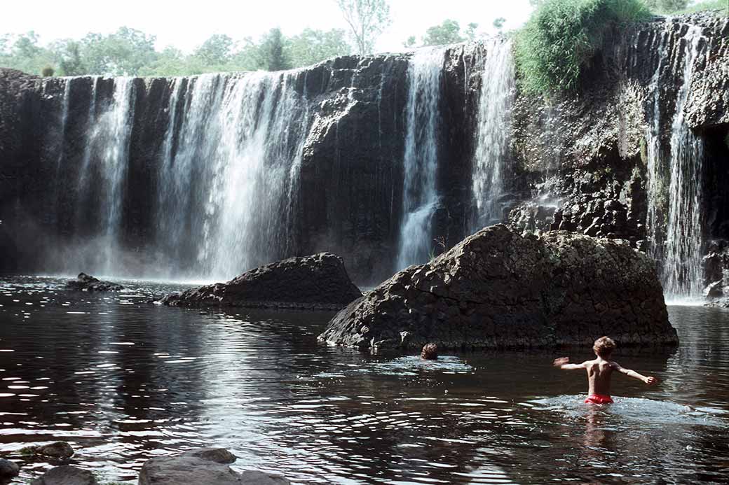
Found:
[{"label": "narrow waterfall with a bent foot, left of the middle pair", "polygon": [[440,79],[444,51],[419,50],[408,66],[407,131],[403,159],[398,269],[421,264],[433,251],[431,223],[438,203],[436,171]]}]

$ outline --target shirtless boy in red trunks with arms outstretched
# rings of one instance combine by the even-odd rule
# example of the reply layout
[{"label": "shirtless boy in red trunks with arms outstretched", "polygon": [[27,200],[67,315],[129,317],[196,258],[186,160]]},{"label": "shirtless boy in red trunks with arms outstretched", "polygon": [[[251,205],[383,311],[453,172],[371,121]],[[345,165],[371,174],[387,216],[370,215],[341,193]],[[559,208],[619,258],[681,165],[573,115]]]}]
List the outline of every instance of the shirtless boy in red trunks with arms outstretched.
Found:
[{"label": "shirtless boy in red trunks with arms outstretched", "polygon": [[622,368],[620,367],[620,364],[610,360],[610,355],[612,355],[612,351],[615,350],[615,342],[607,336],[597,339],[593,345],[593,350],[595,351],[597,358],[595,360],[585,360],[585,362],[581,364],[569,363],[569,357],[561,357],[554,360],[554,366],[561,368],[564,371],[573,371],[578,368],[583,368],[588,371],[590,391],[588,398],[585,399],[585,403],[612,403],[612,398],[610,398],[610,377],[612,376],[612,371],[618,371],[628,377],[632,377],[633,379],[639,379],[647,385],[654,385],[658,382],[658,379],[655,377],[642,376],[636,371],[631,371],[628,368]]}]

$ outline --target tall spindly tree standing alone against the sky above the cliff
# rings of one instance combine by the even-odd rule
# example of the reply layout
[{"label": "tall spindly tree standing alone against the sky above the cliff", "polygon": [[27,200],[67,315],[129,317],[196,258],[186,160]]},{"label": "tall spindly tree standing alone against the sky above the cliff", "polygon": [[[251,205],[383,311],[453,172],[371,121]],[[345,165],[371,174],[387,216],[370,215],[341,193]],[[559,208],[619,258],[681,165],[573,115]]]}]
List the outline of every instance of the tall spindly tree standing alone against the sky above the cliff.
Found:
[{"label": "tall spindly tree standing alone against the sky above the cliff", "polygon": [[386,0],[337,0],[344,20],[351,29],[359,55],[370,54],[378,36],[390,25],[390,6]]}]

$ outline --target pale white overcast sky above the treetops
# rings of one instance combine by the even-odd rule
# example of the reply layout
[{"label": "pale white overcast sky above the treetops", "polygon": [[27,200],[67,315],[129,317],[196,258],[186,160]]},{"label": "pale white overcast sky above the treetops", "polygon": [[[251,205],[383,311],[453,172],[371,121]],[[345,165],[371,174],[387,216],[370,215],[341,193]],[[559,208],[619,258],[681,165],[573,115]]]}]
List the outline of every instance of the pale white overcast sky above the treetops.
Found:
[{"label": "pale white overcast sky above the treetops", "polygon": [[[111,33],[121,26],[157,36],[157,50],[173,45],[190,52],[213,33],[235,40],[257,39],[272,27],[287,36],[305,27],[346,28],[335,0],[31,0],[3,1],[0,34],[36,31],[42,44],[54,39],[79,39],[86,33]],[[504,30],[518,28],[529,17],[529,0],[390,0],[392,24],[377,50],[402,50],[402,42],[420,37],[446,18],[461,28],[470,22],[494,33],[496,17],[507,19]]]}]

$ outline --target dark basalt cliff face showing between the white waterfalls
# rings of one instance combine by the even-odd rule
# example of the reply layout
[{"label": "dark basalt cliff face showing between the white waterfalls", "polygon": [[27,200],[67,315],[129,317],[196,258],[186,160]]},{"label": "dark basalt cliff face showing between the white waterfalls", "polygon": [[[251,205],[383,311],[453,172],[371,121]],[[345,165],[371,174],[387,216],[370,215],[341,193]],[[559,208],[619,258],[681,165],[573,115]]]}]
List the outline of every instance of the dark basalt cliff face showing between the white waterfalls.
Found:
[{"label": "dark basalt cliff face showing between the white waterfalls", "polygon": [[[729,240],[729,191],[724,190],[729,175],[722,165],[729,157],[729,23],[709,13],[658,18],[606,36],[578,92],[547,102],[517,88],[511,125],[505,127],[510,143],[504,222],[519,230],[562,229],[647,246],[649,114],[660,112],[660,144],[666,152],[682,82],[673,70],[681,64],[689,26],[701,28],[705,37],[685,115],[690,129],[706,142],[706,238]],[[445,248],[470,234],[475,220],[472,173],[487,48],[470,43],[444,52],[438,106],[443,129],[437,140],[440,202],[432,236]],[[287,75],[286,82],[305,99],[308,126],[300,127],[305,141],[286,244],[261,262],[332,251],[343,256],[353,279],[362,284],[378,283],[396,269],[408,63],[408,54],[344,56]],[[654,103],[651,84],[659,66]],[[52,267],[65,260],[57,256],[58,248],[77,251],[79,241],[93,240],[103,225],[100,206],[93,203],[99,194],[79,194],[77,187],[95,119],[91,114],[112,102],[114,81],[77,77],[67,87],[65,92],[63,79],[0,69],[0,252],[9,255],[0,259],[0,272],[61,270]],[[133,79],[133,87],[117,244],[132,255],[125,263],[144,269],[160,253],[156,190],[165,134],[176,126],[171,119],[174,83]],[[69,103],[62,130],[64,98]],[[179,98],[178,104],[184,102]],[[173,145],[179,138],[175,133]],[[281,153],[290,152],[291,146],[281,146]],[[657,211],[660,219],[666,207]],[[196,260],[194,244],[180,246],[176,263]]]}]

